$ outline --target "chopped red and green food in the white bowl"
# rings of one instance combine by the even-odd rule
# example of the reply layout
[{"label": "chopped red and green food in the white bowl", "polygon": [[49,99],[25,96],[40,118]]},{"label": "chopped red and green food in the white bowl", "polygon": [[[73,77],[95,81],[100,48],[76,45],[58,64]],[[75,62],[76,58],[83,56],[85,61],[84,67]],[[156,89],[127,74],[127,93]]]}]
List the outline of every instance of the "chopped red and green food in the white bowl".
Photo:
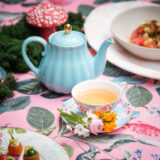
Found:
[{"label": "chopped red and green food in the white bowl", "polygon": [[160,21],[148,20],[131,34],[130,42],[148,48],[160,48]]}]

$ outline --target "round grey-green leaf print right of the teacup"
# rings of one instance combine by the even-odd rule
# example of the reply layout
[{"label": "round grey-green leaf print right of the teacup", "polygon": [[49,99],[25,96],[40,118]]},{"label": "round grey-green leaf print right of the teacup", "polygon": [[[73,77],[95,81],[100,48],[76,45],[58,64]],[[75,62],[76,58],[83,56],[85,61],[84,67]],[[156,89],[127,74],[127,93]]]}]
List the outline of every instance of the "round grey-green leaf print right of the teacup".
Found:
[{"label": "round grey-green leaf print right of the teacup", "polygon": [[133,86],[128,89],[126,97],[134,107],[141,107],[151,101],[152,93],[144,87]]}]

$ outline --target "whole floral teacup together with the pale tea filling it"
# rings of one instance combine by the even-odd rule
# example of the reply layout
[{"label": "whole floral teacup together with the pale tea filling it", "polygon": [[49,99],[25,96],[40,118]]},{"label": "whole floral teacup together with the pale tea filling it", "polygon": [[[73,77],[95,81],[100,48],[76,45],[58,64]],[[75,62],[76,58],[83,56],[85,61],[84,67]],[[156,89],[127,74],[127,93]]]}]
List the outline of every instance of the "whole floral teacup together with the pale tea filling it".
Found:
[{"label": "whole floral teacup together with the pale tea filling it", "polygon": [[87,80],[72,89],[72,97],[80,111],[108,112],[116,106],[123,94],[122,87],[107,80]]}]

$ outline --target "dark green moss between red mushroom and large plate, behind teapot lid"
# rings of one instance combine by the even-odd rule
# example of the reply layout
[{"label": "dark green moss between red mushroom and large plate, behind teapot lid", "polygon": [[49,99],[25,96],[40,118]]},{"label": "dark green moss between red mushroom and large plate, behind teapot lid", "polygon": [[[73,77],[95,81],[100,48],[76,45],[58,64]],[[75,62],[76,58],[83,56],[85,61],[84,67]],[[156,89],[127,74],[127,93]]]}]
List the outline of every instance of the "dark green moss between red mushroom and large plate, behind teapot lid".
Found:
[{"label": "dark green moss between red mushroom and large plate, behind teapot lid", "polygon": [[[69,12],[68,16],[69,16],[68,21],[65,24],[67,23],[71,24],[72,30],[83,32],[82,28],[84,24],[84,18],[82,16],[82,13],[76,14],[76,13]],[[57,31],[63,30],[65,24],[56,27],[56,30]]]}]

